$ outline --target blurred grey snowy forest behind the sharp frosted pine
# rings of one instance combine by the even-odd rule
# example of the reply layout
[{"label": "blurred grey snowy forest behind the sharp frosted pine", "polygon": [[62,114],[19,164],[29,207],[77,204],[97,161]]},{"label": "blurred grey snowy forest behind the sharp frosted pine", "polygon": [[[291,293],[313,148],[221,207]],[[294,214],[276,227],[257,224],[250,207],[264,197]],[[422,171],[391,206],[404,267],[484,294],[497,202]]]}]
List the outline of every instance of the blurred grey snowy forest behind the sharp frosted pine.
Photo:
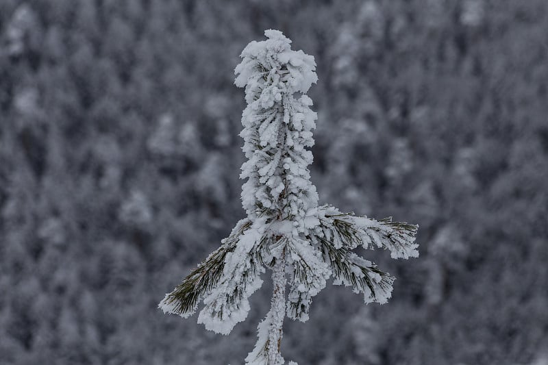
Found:
[{"label": "blurred grey snowy forest behind the sharp frosted pine", "polygon": [[244,215],[234,66],[267,28],[318,64],[321,202],[421,225],[419,259],[368,253],[392,301],[324,290],[286,358],[547,364],[546,0],[1,0],[0,363],[251,351],[269,288],[228,337],[156,305]]}]

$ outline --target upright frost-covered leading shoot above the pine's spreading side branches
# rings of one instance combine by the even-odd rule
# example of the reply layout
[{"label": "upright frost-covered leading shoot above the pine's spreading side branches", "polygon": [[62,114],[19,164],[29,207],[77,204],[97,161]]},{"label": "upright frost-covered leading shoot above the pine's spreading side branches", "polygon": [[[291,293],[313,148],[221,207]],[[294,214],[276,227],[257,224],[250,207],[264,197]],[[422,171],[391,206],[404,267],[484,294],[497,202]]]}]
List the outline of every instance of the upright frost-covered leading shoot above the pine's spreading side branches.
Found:
[{"label": "upright frost-covered leading shoot above the pine's spreading side branches", "polygon": [[307,214],[318,205],[307,168],[312,153],[306,150],[314,144],[316,113],[304,95],[318,79],[316,63],[311,55],[293,51],[282,32],[269,29],[264,34],[269,39],[249,43],[236,66],[236,85],[245,86],[248,103],[240,134],[249,159],[240,175],[248,178],[242,205],[252,219],[288,220],[303,232]]}]

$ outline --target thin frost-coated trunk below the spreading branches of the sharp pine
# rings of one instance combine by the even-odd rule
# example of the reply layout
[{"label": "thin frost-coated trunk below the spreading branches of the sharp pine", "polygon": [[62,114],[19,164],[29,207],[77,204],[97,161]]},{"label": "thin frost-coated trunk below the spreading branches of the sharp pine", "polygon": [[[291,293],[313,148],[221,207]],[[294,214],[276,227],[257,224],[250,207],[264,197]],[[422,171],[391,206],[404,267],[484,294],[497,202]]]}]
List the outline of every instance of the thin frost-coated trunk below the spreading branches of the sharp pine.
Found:
[{"label": "thin frost-coated trunk below the spreading branches of the sharp pine", "polygon": [[272,269],[272,282],[274,284],[271,301],[271,323],[269,326],[269,353],[268,365],[282,365],[284,358],[280,348],[284,334],[284,318],[286,316],[286,255],[285,249],[282,256],[276,260]]}]

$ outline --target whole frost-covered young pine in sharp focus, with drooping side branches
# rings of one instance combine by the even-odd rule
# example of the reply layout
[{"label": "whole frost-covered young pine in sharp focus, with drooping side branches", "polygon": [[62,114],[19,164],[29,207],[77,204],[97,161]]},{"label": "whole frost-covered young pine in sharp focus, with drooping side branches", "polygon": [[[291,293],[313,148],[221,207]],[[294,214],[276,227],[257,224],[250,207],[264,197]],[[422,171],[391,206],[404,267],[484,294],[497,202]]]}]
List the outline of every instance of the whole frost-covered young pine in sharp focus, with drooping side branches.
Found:
[{"label": "whole frost-covered young pine in sharp focus, with drooping side branches", "polygon": [[[306,92],[317,80],[314,58],[292,51],[277,30],[251,42],[236,66],[236,85],[245,87],[247,108],[240,136],[248,158],[242,166],[242,205],[247,218],[173,292],[164,312],[187,318],[203,300],[198,323],[227,334],[249,312],[249,296],[272,270],[271,309],[258,326],[258,342],[247,364],[284,364],[280,353],[284,317],[308,320],[312,297],[333,277],[351,286],[366,303],[386,303],[393,277],[353,253],[388,249],[393,258],[417,257],[416,225],[381,221],[318,205],[308,165],[316,113]],[[288,293],[286,295],[286,287]]]}]

